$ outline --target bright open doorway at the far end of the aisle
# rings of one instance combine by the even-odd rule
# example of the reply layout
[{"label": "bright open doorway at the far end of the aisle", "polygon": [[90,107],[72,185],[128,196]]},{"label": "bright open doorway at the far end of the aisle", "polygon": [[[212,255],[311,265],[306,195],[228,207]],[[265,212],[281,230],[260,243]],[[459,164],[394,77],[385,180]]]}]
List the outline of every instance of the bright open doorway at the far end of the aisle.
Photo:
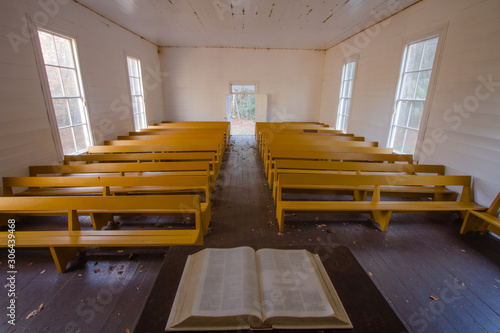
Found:
[{"label": "bright open doorway at the far end of the aisle", "polygon": [[231,135],[255,133],[255,90],[255,84],[230,84],[226,118],[231,122]]}]

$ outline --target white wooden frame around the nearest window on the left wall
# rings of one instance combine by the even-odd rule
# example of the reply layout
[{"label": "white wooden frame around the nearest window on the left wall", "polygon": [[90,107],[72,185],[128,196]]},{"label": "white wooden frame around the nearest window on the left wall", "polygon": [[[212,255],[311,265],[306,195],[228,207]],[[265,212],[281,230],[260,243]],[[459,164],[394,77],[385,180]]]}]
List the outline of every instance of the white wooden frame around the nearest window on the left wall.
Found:
[{"label": "white wooden frame around the nearest window on the left wall", "polygon": [[[73,61],[74,61],[74,70],[76,71],[76,79],[77,83],[79,86],[79,93],[80,97],[82,100],[82,111],[83,111],[83,117],[85,118],[85,125],[87,126],[87,136],[88,136],[88,145],[87,148],[76,151],[72,155],[78,155],[82,154],[88,151],[88,147],[94,145],[95,143],[95,138],[94,138],[94,133],[92,130],[92,123],[90,121],[90,113],[88,110],[88,104],[87,104],[87,98],[85,94],[85,87],[83,84],[83,72],[82,68],[80,65],[80,58],[79,58],[79,52],[78,52],[78,40],[76,36],[73,34],[69,34],[66,32],[63,32],[59,29],[55,29],[52,27],[39,27],[35,25],[30,18],[27,18],[28,20],[28,25],[31,30],[31,40],[34,46],[34,53],[35,53],[35,62],[38,68],[39,76],[40,76],[40,84],[42,87],[42,94],[44,97],[44,102],[45,102],[45,109],[47,112],[47,117],[49,120],[49,125],[52,133],[52,139],[54,142],[54,147],[56,150],[56,155],[59,158],[60,161],[64,159],[64,149],[62,145],[62,140],[61,140],[61,133],[59,130],[59,125],[57,123],[57,118],[56,118],[56,111],[55,111],[55,106],[54,106],[54,101],[52,97],[52,93],[50,90],[50,84],[49,84],[49,79],[48,79],[48,74],[46,70],[46,64],[45,60],[43,57],[43,51],[42,51],[42,46],[40,42],[40,36],[39,32],[45,32],[54,36],[58,36],[60,38],[65,38],[69,39],[71,42],[71,47],[73,51]],[[63,66],[58,66],[58,67],[63,67]],[[64,67],[63,67],[64,68]]]}]

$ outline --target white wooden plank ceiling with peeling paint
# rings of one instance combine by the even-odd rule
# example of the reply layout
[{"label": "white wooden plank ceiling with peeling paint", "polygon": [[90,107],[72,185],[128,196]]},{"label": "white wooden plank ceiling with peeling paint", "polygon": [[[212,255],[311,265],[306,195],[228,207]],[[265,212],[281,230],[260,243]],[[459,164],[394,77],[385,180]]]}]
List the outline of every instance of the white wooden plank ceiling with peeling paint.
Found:
[{"label": "white wooden plank ceiling with peeling paint", "polygon": [[421,0],[74,0],[158,46],[326,50]]}]

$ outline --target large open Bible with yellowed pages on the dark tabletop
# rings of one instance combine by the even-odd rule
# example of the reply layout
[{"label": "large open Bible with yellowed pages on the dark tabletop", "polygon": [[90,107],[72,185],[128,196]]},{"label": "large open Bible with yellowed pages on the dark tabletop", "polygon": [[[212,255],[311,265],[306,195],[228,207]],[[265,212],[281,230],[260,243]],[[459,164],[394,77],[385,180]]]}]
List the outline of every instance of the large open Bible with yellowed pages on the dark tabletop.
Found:
[{"label": "large open Bible with yellowed pages on the dark tabletop", "polygon": [[188,257],[166,331],[352,328],[306,250],[205,249]]}]

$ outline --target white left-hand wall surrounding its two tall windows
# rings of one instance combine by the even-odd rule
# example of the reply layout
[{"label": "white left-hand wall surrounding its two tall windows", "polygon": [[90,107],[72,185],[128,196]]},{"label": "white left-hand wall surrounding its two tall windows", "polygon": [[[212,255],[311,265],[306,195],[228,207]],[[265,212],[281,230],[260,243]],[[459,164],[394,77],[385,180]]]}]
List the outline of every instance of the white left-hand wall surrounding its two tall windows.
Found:
[{"label": "white left-hand wall surrounding its two tall windows", "polygon": [[[44,3],[53,5],[40,7]],[[26,175],[29,165],[59,161],[26,15],[40,27],[76,38],[96,144],[134,130],[128,103],[126,53],[142,61],[145,85],[147,83],[148,122],[163,120],[159,57],[155,45],[73,1],[1,0],[1,176]]]}]

